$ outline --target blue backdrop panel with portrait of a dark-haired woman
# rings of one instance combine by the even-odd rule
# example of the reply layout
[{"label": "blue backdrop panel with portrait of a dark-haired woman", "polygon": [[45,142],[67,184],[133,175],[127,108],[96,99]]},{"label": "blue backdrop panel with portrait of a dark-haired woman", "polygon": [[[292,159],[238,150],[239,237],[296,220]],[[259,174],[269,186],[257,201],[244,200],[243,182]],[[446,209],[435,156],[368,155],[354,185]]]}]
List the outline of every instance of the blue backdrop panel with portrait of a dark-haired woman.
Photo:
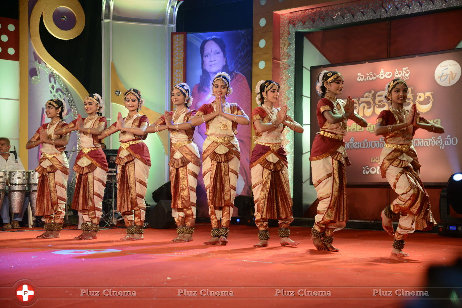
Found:
[{"label": "blue backdrop panel with portrait of a dark-haired woman", "polygon": [[[214,37],[212,41],[210,38]],[[209,42],[207,42],[209,41]],[[201,45],[203,51],[201,52]],[[193,33],[187,35],[186,82],[193,89],[191,109],[198,110],[202,105],[214,100],[210,83],[213,76],[225,71],[231,76],[233,93],[226,98],[237,103],[249,116],[251,113],[252,80],[252,30]],[[237,195],[250,195],[250,125],[237,125],[237,140],[241,150],[241,166],[237,180]],[[205,138],[205,124],[196,127],[194,142],[202,155]],[[202,169],[197,184],[197,204],[199,216],[208,215]],[[237,214],[237,211],[234,212]]]}]

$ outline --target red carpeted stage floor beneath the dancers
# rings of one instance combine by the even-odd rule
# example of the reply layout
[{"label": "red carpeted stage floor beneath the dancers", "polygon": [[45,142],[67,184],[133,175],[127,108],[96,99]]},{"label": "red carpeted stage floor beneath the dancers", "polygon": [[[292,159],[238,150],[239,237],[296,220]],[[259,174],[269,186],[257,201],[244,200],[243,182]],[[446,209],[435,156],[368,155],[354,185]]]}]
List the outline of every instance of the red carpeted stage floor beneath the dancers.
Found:
[{"label": "red carpeted stage floor beneath the dancers", "polygon": [[230,231],[226,246],[202,245],[210,238],[208,224],[196,225],[189,243],[171,243],[175,229],[148,228],[135,242],[118,241],[124,229],[102,230],[90,241],[74,240],[76,229],[57,239],[35,239],[39,229],[3,231],[1,307],[18,307],[13,286],[22,279],[35,289],[32,307],[400,307],[416,299],[396,290],[424,290],[427,268],[449,266],[462,252],[460,238],[429,233],[411,234],[404,249],[410,256],[401,258],[390,255],[393,238],[384,231],[337,232],[337,253],[317,251],[310,228],[291,227],[300,244],[286,247],[270,228],[270,246],[258,249],[252,248],[256,228],[231,225]]}]

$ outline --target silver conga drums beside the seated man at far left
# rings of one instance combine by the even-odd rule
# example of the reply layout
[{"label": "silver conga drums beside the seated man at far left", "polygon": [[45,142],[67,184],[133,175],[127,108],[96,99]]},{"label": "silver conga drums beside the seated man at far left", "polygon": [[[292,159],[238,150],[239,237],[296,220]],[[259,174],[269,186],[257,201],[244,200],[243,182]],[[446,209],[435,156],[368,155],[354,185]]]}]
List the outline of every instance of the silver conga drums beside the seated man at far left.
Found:
[{"label": "silver conga drums beside the seated man at far left", "polygon": [[0,170],[0,209],[6,192],[10,201],[12,214],[22,213],[24,210],[24,198],[29,194],[29,227],[32,227],[32,216],[35,215],[37,206],[37,188],[39,174],[35,170]]}]

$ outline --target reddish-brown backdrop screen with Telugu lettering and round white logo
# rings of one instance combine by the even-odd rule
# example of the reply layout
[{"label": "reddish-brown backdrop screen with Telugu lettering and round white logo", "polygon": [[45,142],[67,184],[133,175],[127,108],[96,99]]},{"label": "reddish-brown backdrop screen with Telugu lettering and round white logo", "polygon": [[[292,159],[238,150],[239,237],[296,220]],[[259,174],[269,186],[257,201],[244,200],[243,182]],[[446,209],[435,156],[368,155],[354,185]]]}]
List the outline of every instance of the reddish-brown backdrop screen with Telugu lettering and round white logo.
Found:
[{"label": "reddish-brown backdrop screen with Telugu lettering and round white logo", "polygon": [[[323,70],[340,71],[345,79],[343,93],[338,98],[346,101],[351,95],[355,100],[355,111],[369,123],[367,128],[348,121],[344,138],[346,151],[352,166],[347,168],[348,184],[383,184],[379,157],[383,148],[383,136],[374,135],[377,116],[387,110],[383,102],[385,86],[394,78],[404,79],[408,95],[404,104],[417,105],[421,117],[443,125],[444,134],[426,130],[416,131],[413,145],[422,165],[420,175],[425,183],[446,183],[450,175],[461,171],[462,144],[459,142],[459,101],[462,89],[462,51],[449,50],[400,58],[323,65],[311,67],[311,80],[316,80]],[[311,123],[316,123],[315,83],[311,84]],[[311,125],[311,139],[319,131],[318,125]]]}]

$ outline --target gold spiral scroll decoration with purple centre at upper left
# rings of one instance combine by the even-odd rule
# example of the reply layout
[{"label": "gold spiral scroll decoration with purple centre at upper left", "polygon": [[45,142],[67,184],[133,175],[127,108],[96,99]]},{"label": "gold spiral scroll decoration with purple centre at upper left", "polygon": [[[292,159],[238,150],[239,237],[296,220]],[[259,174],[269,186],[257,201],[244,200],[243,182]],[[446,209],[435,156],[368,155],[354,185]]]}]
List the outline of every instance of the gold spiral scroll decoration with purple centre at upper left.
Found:
[{"label": "gold spiral scroll decoration with purple centre at upper left", "polygon": [[[71,10],[76,18],[76,24],[71,30],[59,29],[53,21],[53,12],[56,8],[64,6]],[[78,0],[38,0],[32,13],[30,14],[30,41],[34,47],[36,53],[45,63],[56,71],[61,78],[78,93],[80,99],[83,101],[85,96],[88,95],[88,91],[85,87],[75,78],[64,66],[56,61],[43,46],[42,40],[40,39],[40,16],[43,15],[43,24],[49,31],[49,33],[61,40],[72,40],[77,37],[85,26],[85,13],[80,6]]]}]

